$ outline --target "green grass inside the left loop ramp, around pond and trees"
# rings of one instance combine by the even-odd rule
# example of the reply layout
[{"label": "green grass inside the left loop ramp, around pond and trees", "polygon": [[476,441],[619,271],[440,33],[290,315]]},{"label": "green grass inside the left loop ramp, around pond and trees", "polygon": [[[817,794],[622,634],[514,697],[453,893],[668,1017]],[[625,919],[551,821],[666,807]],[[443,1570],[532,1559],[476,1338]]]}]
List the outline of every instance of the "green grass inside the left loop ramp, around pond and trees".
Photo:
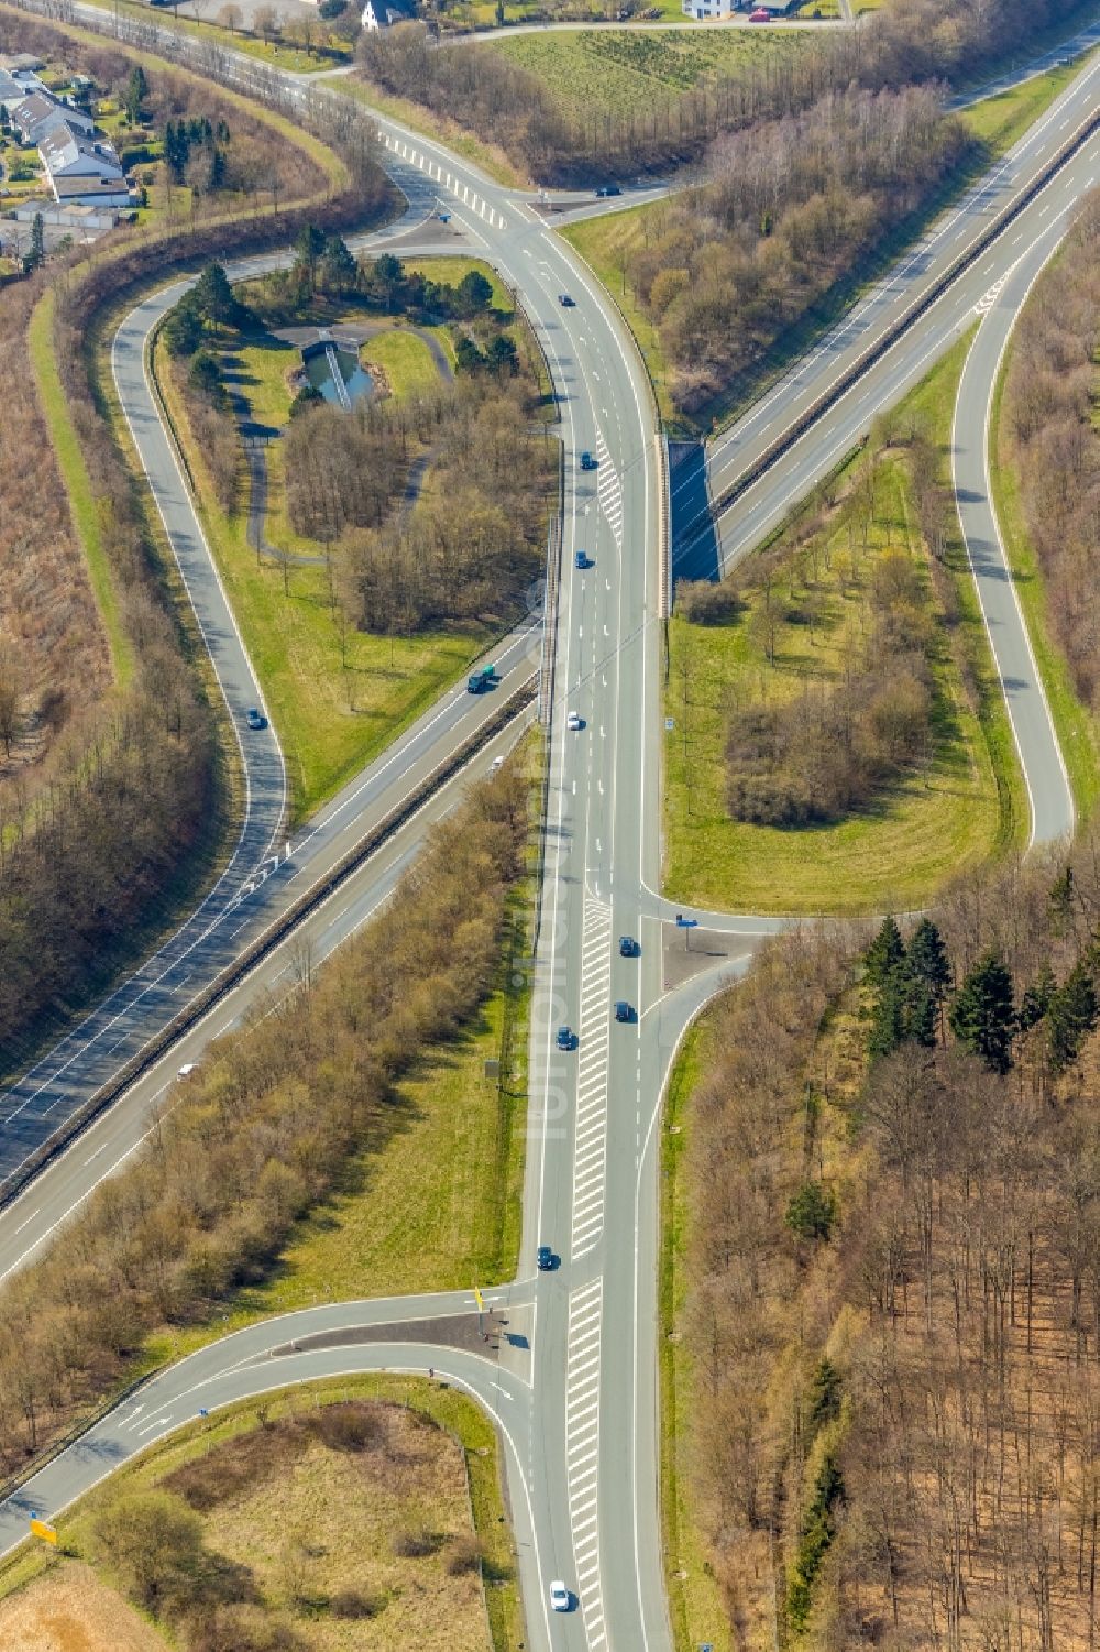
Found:
[{"label": "green grass inside the left loop ramp, around pond and trees", "polygon": [[[433,279],[444,276],[456,282],[466,269],[474,268],[474,261],[410,261],[410,268],[424,269]],[[491,276],[491,271],[484,273]],[[512,314],[507,291],[495,278],[494,306]],[[347,306],[325,311],[324,319],[330,322],[340,316],[348,320],[378,319],[377,312]],[[438,334],[449,352],[449,335],[444,329],[438,329]],[[299,362],[297,352],[268,335],[256,342],[244,340],[239,349],[223,354],[228,377],[246,403],[246,416],[266,430],[281,430],[291,406],[287,373]],[[375,358],[383,365],[390,393],[398,398],[420,388],[429,373],[436,380],[428,347],[396,325],[370,339],[362,354],[367,365]],[[286,517],[277,439],[266,448],[266,539],[291,558],[312,558],[284,565],[271,557],[259,558],[249,544],[244,484],[233,512],[225,512],[216,504],[203,454],[190,434],[183,401],[173,388],[172,372],[165,368],[165,352],[159,345],[157,380],[195,479],[208,542],[263,686],[266,707],[279,730],[294,816],[301,819],[459,679],[492,633],[479,624],[454,624],[411,638],[348,631],[345,664],[329,600],[324,547],[299,539]],[[429,477],[426,486],[431,486]]]}]

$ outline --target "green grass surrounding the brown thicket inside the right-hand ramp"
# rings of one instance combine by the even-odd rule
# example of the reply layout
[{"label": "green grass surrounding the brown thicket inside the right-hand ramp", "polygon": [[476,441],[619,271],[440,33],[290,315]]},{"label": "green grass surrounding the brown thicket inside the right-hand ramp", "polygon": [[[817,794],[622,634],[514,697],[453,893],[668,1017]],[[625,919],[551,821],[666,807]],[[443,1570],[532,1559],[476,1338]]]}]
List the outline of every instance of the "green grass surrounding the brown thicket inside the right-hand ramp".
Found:
[{"label": "green grass surrounding the brown thicket inside the right-hand ramp", "polygon": [[[945,481],[965,350],[966,340],[902,410],[903,416],[927,423],[941,453]],[[857,636],[865,621],[875,553],[905,547],[925,562],[902,458],[887,453],[877,476],[870,562],[852,578],[842,548],[846,535],[842,540],[837,535],[832,567],[819,568],[814,582],[824,628],[818,629],[813,648],[804,615],[794,608],[780,626],[775,664],[768,664],[752,623],[763,601],[752,582],[745,593],[748,608],[730,624],[672,620],[666,712],[676,719],[676,729],[664,737],[664,760],[666,881],[674,899],[760,912],[908,910],[963,866],[1003,852],[1026,833],[1027,805],[1008,714],[958,537],[948,545],[948,568],[958,593],[960,648],[976,682],[978,709],[968,702],[960,664],[940,638],[932,656],[935,710],[927,765],[837,824],[785,829],[732,821],[727,814],[727,707],[761,695],[770,702],[793,699],[801,692],[806,669],[837,681],[846,639]]]}]

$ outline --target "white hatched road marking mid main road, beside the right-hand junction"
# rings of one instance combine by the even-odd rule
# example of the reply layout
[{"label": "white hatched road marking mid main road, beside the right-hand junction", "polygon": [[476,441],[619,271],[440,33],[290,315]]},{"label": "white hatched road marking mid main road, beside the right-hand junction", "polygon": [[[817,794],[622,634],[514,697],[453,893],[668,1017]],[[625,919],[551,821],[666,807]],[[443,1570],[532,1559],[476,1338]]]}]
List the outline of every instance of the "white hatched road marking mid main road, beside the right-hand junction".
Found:
[{"label": "white hatched road marking mid main road, beside the right-hand junction", "polygon": [[608,1168],[608,1047],[611,1036],[611,907],[585,899],[580,1056],[573,1125],[573,1260],[603,1232]]}]

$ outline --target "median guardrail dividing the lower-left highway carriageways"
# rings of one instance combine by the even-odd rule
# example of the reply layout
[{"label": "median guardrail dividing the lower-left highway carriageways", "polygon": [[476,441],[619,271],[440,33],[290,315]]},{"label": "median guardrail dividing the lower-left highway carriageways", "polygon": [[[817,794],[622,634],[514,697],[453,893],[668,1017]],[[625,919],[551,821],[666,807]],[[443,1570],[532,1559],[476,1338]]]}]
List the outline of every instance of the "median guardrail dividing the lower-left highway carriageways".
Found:
[{"label": "median guardrail dividing the lower-left highway carriageways", "polygon": [[117,1102],[129,1087],[140,1079],[144,1072],[149,1070],[160,1057],[175,1044],[195,1023],[202,1021],[203,1016],[213,1009],[213,1006],[226,996],[251,970],[261,963],[268,953],[271,953],[297,925],[309,917],[324,900],[334,894],[340,884],[344,884],[352,872],[370,859],[390,838],[408,821],[418,809],[436,791],[441,790],[449,780],[458,775],[466,763],[484,747],[494,735],[497,735],[507,724],[517,717],[524,707],[530,705],[537,692],[537,677],[530,676],[519,689],[515,689],[507,700],[497,707],[492,717],[489,717],[479,729],[476,729],[449,757],[424,775],[418,786],[415,786],[396,808],[390,809],[386,816],[368,831],[357,844],[353,844],[347,854],[344,854],[335,866],[330,867],[317,882],[297,897],[297,900],[287,907],[287,910],[274,919],[256,940],[249,942],[244,952],[228,963],[220,973],[210,981],[195,998],[168,1021],[159,1032],[155,1032],[130,1061],[126,1062],[119,1072],[104,1084],[94,1095],[78,1107],[78,1110],[53,1132],[41,1146],[23,1160],[23,1163],[10,1171],[8,1176],[0,1180],[0,1208],[10,1204],[12,1199],[30,1183],[40,1171],[61,1153],[71,1142],[76,1140],[107,1107]]}]

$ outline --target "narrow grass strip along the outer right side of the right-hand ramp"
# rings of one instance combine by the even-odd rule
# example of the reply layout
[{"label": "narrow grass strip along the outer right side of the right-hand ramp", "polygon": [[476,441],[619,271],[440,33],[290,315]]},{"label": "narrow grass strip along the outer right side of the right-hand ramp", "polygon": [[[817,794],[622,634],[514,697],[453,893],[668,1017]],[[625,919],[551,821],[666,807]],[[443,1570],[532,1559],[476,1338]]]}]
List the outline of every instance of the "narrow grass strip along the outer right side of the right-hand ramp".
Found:
[{"label": "narrow grass strip along the outer right side of the right-hand ramp", "polygon": [[1009,443],[1004,415],[1004,380],[1009,362],[1011,345],[1001,367],[989,418],[993,502],[1001,525],[1004,553],[1012,570],[1021,608],[1024,610],[1036,664],[1039,666],[1059,745],[1065,758],[1074,805],[1079,821],[1083,823],[1095,813],[1097,800],[1100,798],[1100,729],[1079,700],[1069,661],[1054,639],[1054,631],[1047,621],[1047,591],[1042,570],[1024,520],[1019,477],[1016,469],[1001,459],[1001,453]]}]

